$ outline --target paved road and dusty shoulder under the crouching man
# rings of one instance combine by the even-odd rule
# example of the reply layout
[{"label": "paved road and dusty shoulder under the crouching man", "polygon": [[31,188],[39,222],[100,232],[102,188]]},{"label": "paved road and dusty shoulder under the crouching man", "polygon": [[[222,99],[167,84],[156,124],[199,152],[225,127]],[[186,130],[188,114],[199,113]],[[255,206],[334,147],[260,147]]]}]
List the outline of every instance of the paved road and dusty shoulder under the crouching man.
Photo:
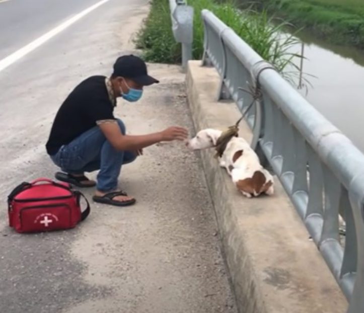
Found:
[{"label": "paved road and dusty shoulder under the crouching man", "polygon": [[[14,29],[22,23],[29,28],[18,34],[2,26],[0,40],[4,36],[8,46],[1,44],[0,53],[13,52],[92,2],[52,1],[56,7],[48,10],[46,3],[0,2],[0,23],[5,15]],[[84,77],[110,74],[115,58],[132,50],[130,34],[148,12],[146,4],[110,0],[0,71],[2,313],[236,312],[199,159],[177,143],[146,149],[123,169],[120,187],[137,198],[133,208],[93,204],[87,221],[64,232],[20,235],[7,225],[11,188],[55,171],[44,143],[60,103]],[[21,9],[31,5],[43,10],[34,19]],[[16,8],[20,20],[10,17]],[[192,129],[178,67],[152,65],[151,71],[161,84],[146,90],[140,103],[119,103],[116,115],[132,133],[171,124]]]}]

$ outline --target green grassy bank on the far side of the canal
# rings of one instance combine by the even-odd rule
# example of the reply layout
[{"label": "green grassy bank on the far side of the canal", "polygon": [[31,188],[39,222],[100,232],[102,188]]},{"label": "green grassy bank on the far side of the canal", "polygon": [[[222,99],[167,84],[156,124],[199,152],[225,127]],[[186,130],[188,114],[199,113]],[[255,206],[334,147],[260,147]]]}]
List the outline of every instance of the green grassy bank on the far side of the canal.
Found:
[{"label": "green grassy bank on the far side of the canal", "polygon": [[264,8],[327,41],[364,48],[363,0],[261,0]]}]

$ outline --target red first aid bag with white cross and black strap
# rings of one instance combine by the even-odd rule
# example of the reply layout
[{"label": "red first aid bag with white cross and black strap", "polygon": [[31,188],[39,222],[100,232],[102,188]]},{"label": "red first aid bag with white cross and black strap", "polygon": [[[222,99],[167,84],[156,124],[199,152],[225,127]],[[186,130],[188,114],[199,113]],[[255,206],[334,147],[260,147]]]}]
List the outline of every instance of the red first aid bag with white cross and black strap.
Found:
[{"label": "red first aid bag with white cross and black strap", "polygon": [[[83,212],[81,197],[87,203]],[[81,192],[47,178],[20,184],[8,196],[8,206],[9,226],[17,232],[73,228],[90,214],[90,204]]]}]

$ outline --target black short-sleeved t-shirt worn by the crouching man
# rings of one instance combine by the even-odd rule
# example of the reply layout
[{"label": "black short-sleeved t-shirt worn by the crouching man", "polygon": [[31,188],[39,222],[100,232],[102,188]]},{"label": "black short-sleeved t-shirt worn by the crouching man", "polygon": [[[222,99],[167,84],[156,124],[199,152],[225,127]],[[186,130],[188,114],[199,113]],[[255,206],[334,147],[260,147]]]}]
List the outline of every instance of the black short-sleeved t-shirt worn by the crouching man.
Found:
[{"label": "black short-sleeved t-shirt worn by the crouching man", "polygon": [[63,144],[95,127],[96,121],[115,119],[105,79],[105,76],[89,77],[64,100],[46,143],[48,154],[56,154]]}]

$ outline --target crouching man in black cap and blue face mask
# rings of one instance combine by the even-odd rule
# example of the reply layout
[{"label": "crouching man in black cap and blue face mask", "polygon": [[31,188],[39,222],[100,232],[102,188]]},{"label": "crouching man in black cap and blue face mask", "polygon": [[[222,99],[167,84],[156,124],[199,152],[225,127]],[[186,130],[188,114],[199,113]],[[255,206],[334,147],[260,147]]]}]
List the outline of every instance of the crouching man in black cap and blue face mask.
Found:
[{"label": "crouching man in black cap and blue face mask", "polygon": [[[185,140],[187,130],[173,126],[146,135],[126,135],[125,125],[114,117],[116,98],[134,102],[144,86],[159,83],[148,75],[139,57],[125,55],[114,64],[111,77],[91,76],[79,84],[60,106],[46,149],[62,172],[56,179],[78,187],[93,187],[95,202],[126,206],[135,198],[117,190],[121,167],[142,154],[142,148],[160,141]],[[97,182],[85,172],[100,170]]]}]

